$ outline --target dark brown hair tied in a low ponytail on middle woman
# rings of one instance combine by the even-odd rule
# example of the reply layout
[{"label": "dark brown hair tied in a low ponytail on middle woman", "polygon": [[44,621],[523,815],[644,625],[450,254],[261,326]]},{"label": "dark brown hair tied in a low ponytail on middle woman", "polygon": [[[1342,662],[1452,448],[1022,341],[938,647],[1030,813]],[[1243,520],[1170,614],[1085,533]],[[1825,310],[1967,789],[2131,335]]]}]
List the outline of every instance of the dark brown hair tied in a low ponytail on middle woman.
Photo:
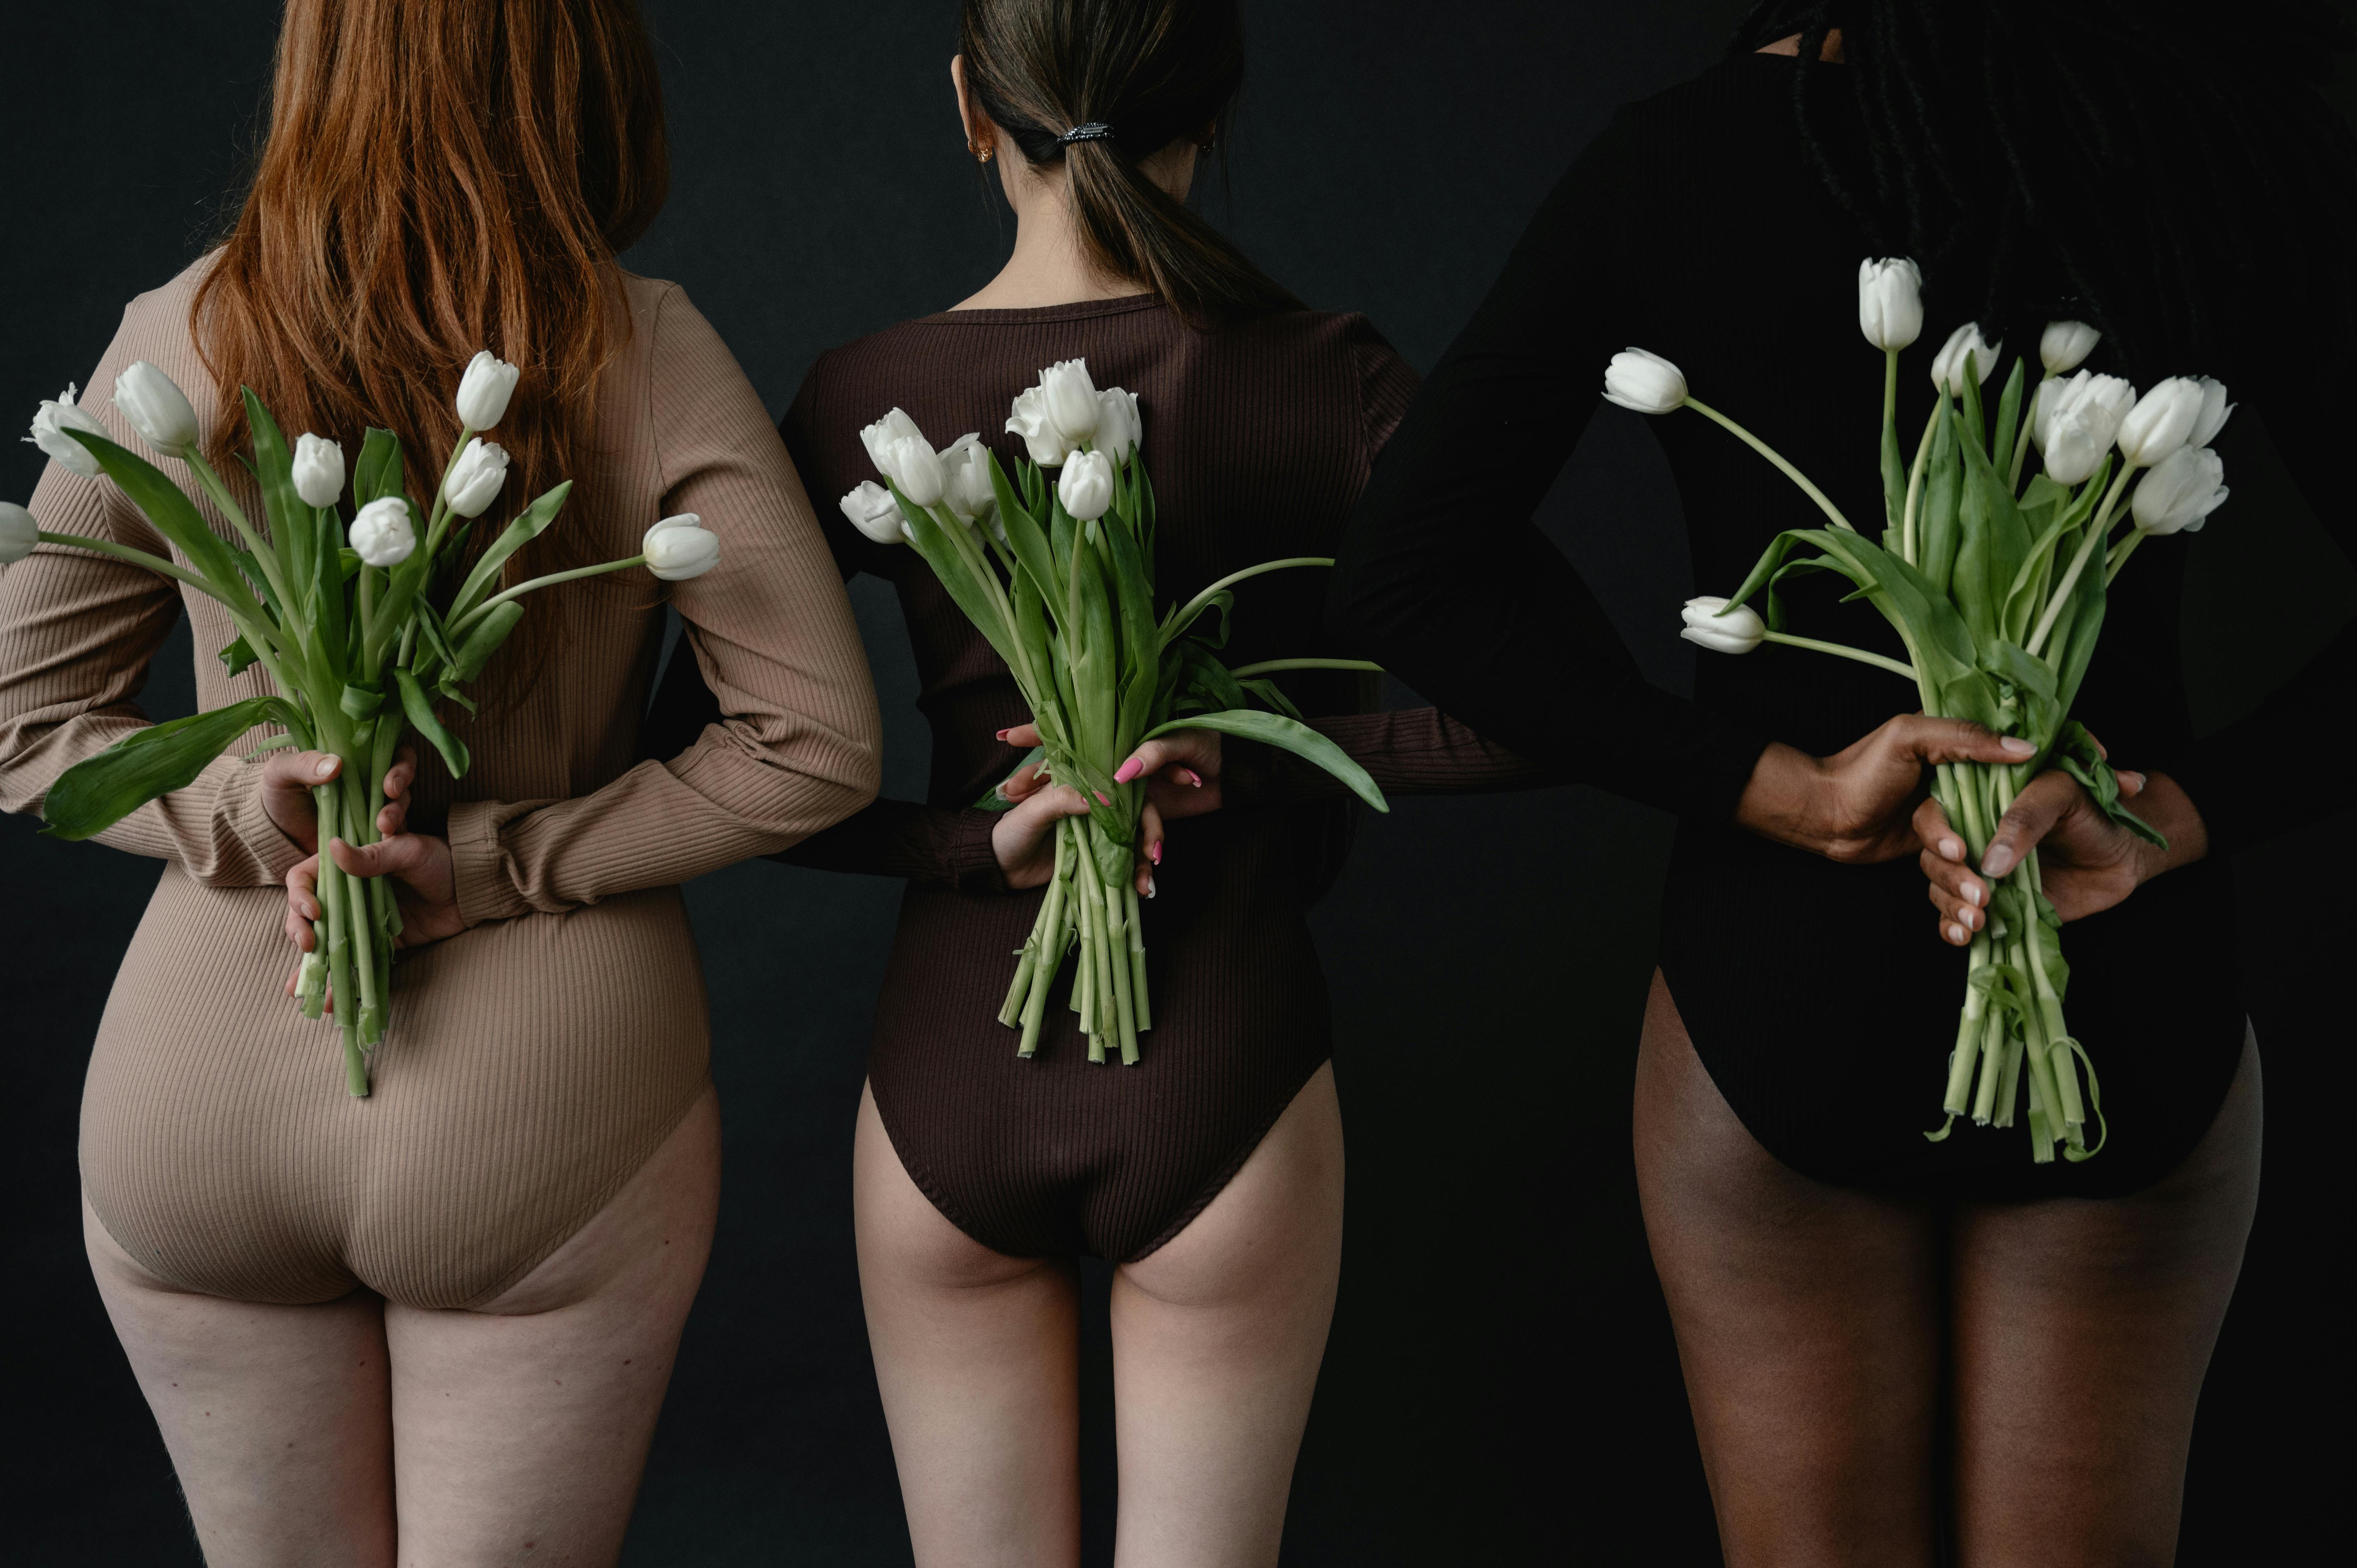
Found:
[{"label": "dark brown hair tied in a low ponytail on middle woman", "polygon": [[[1226,127],[1244,83],[1235,0],[964,0],[966,87],[1032,167],[1063,160],[1089,259],[1209,328],[1301,302],[1138,165]],[[1075,127],[1105,127],[1063,141]]]}]

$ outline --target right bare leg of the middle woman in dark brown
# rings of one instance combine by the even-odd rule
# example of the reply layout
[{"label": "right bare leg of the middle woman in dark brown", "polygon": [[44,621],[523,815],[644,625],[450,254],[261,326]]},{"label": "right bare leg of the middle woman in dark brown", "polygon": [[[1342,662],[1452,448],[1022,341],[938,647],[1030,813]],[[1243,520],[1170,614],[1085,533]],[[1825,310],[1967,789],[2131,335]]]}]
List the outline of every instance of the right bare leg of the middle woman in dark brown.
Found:
[{"label": "right bare leg of the middle woman in dark brown", "polygon": [[1341,1106],[1322,1066],[1178,1236],[1113,1276],[1120,1568],[1261,1568],[1341,1276]]}]

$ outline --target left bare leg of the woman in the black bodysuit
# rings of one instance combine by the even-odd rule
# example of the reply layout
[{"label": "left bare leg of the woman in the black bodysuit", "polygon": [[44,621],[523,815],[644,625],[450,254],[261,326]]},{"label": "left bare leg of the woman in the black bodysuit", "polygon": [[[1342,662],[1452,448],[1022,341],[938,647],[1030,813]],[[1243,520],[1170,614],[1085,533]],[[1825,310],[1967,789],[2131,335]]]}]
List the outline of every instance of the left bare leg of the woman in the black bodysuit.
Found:
[{"label": "left bare leg of the woman in the black bodysuit", "polygon": [[1930,1563],[1930,1212],[1810,1181],[1761,1148],[1659,974],[1636,1179],[1728,1563]]}]

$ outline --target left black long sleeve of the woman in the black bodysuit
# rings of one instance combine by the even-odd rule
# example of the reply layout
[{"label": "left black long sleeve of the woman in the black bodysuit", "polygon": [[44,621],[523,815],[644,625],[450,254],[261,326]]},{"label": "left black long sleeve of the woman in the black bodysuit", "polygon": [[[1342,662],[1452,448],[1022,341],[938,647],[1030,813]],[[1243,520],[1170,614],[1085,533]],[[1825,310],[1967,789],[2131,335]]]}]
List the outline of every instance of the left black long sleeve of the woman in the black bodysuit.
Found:
[{"label": "left black long sleeve of the woman in the black bodysuit", "polygon": [[1549,196],[1424,382],[1343,538],[1334,634],[1567,780],[1725,821],[1765,736],[1650,686],[1532,514],[1626,347],[1607,314],[1633,184],[1610,139]]}]

